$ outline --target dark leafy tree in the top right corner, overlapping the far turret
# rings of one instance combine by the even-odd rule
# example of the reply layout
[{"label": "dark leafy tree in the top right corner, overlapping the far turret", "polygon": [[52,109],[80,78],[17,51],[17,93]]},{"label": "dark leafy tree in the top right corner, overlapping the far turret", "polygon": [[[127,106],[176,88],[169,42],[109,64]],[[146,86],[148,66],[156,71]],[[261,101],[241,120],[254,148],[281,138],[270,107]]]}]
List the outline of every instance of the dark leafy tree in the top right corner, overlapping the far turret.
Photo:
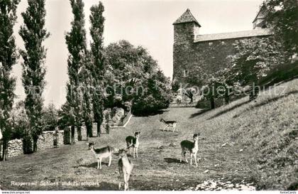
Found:
[{"label": "dark leafy tree in the top right corner, overlapping the far turret", "polygon": [[268,26],[273,28],[277,41],[285,45],[289,55],[298,53],[298,2],[297,0],[265,0]]}]

